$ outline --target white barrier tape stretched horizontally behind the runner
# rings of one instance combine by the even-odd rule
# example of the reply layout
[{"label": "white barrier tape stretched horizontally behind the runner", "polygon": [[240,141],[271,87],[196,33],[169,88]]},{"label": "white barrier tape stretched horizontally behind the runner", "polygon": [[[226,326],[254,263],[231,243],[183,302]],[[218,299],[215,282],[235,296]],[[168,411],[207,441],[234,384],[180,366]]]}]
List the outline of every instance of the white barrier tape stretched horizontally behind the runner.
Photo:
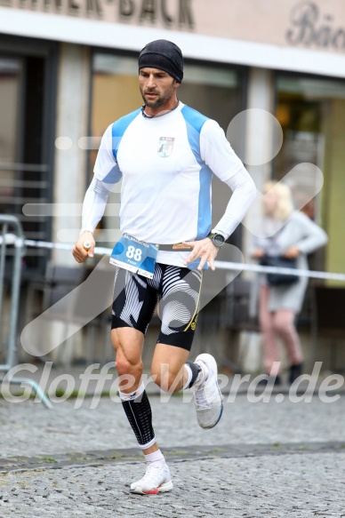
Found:
[{"label": "white barrier tape stretched horizontally behind the runner", "polygon": [[[25,239],[24,243],[26,246],[32,246],[36,248],[48,248],[51,250],[66,250],[72,251],[72,244],[68,243],[49,243],[46,241],[34,241],[31,239]],[[95,255],[111,255],[112,248],[103,248],[96,246],[94,249]],[[232,271],[248,271],[259,274],[283,274],[283,275],[300,275],[303,277],[309,277],[311,279],[324,279],[328,281],[342,281],[345,282],[345,274],[338,274],[333,272],[317,272],[314,270],[303,270],[299,268],[284,268],[284,267],[261,267],[260,265],[251,265],[245,263],[234,263],[231,261],[214,261],[214,266],[220,270],[232,270]]]}]

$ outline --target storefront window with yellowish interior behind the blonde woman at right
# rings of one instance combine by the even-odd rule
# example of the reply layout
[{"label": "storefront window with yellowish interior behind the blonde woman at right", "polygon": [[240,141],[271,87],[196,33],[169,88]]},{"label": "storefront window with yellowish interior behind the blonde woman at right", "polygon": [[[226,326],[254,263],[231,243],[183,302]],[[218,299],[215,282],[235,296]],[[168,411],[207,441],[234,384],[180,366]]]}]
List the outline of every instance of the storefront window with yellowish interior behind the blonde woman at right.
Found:
[{"label": "storefront window with yellowish interior behind the blonde woman at right", "polygon": [[[329,243],[318,268],[343,271],[342,235],[345,219],[345,82],[308,76],[277,75],[277,119],[284,144],[275,175],[281,179],[298,163],[315,163],[324,187],[302,209],[325,228]],[[295,189],[296,208],[305,203],[303,188]]]}]

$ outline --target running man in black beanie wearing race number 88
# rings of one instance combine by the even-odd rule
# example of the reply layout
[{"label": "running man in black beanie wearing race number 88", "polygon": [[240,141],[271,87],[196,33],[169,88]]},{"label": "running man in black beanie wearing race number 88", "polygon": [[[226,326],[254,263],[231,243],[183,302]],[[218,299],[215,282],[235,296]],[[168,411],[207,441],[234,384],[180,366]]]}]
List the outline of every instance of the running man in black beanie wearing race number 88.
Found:
[{"label": "running man in black beanie wearing race number 88", "polygon": [[[156,384],[172,392],[191,388],[199,426],[212,428],[222,413],[216,362],[206,354],[188,361],[202,270],[206,263],[214,270],[219,248],[256,194],[253,180],[219,124],[178,100],[182,79],[183,58],[176,44],[157,40],[142,49],[139,86],[144,105],[110,124],[101,139],[94,177],[84,198],[82,231],[73,249],[79,263],[93,256],[92,233],[109,191],[122,179],[123,238],[113,252],[114,262],[122,266],[115,268],[111,340],[118,376],[132,379],[131,384],[121,381],[119,394],[147,462],[143,478],[131,484],[131,492],[140,494],[173,489],[141,380],[148,323],[158,303],[162,325],[151,365]],[[212,229],[213,173],[233,194]],[[83,246],[86,241],[91,242],[88,251]]]}]

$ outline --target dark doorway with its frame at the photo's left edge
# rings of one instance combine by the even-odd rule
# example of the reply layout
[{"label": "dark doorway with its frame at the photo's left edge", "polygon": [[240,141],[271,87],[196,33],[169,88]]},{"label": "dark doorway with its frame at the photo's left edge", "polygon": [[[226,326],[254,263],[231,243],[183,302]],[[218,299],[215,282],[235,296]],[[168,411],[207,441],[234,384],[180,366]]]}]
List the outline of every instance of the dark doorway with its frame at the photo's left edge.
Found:
[{"label": "dark doorway with its frame at the photo's left edge", "polygon": [[[50,239],[50,220],[26,217],[23,206],[52,201],[55,69],[54,44],[0,38],[0,212],[33,240]],[[43,272],[46,259],[28,249],[23,274]]]}]

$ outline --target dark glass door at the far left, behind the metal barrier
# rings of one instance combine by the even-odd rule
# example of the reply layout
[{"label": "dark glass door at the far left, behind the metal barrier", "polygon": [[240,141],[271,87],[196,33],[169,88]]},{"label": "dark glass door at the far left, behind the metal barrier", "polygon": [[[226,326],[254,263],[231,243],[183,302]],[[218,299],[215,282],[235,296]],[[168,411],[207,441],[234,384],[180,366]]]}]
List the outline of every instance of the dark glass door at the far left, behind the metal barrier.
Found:
[{"label": "dark glass door at the far left, behind the metal barrier", "polygon": [[[50,199],[44,152],[44,58],[0,53],[0,212],[20,219],[28,239],[48,240],[49,221],[26,217],[26,203]],[[43,267],[46,251],[28,249],[26,267]]]}]

